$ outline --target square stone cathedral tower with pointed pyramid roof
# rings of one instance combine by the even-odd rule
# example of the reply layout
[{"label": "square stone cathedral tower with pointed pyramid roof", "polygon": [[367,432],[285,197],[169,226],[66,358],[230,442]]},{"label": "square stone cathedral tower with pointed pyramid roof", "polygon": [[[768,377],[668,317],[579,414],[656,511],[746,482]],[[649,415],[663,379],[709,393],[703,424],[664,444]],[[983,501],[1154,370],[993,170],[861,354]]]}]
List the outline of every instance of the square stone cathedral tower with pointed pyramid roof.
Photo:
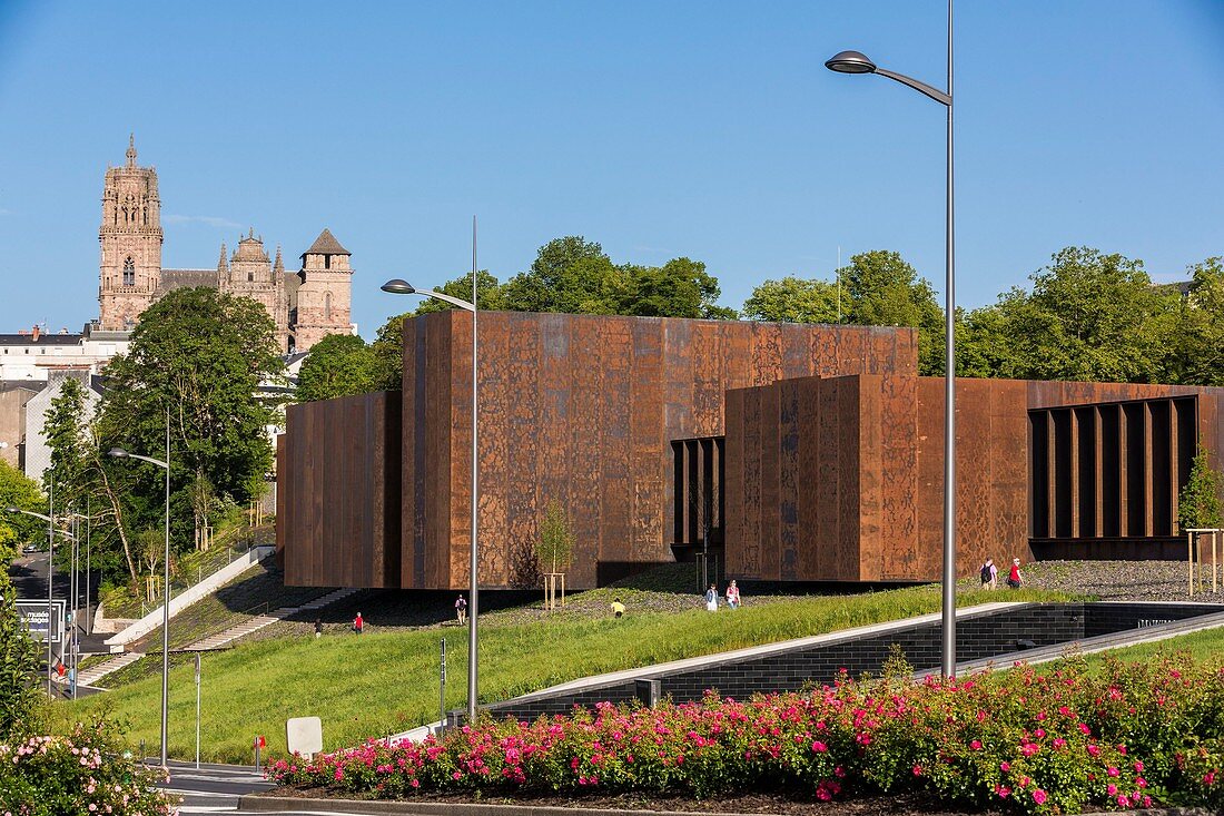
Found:
[{"label": "square stone cathedral tower with pointed pyramid roof", "polygon": [[328,334],[351,334],[353,267],[349,250],[340,246],[329,229],[319,233],[302,252],[300,283],[294,293],[291,320],[294,348],[299,352]]}]

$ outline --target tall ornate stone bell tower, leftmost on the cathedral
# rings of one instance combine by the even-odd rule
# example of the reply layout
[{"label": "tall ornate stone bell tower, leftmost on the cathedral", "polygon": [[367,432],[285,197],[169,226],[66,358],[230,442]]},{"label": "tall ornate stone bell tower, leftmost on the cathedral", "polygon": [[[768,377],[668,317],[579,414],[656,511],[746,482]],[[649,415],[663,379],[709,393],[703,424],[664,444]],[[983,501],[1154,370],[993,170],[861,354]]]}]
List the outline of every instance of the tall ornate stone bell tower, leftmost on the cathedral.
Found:
[{"label": "tall ornate stone bell tower, leftmost on the cathedral", "polygon": [[157,170],[136,167],[135,137],[127,164],[106,168],[102,195],[102,268],[98,306],[102,328],[125,331],[153,303],[162,277],[162,201]]}]

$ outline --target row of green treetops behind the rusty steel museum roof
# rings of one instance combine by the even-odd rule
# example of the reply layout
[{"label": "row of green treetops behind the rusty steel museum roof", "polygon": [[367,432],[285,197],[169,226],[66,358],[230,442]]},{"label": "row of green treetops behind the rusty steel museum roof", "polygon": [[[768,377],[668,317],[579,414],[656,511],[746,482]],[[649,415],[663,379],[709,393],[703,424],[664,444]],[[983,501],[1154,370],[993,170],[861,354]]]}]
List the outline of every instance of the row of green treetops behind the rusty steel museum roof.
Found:
[{"label": "row of green treetops behind the rusty steel museum roof", "polygon": [[[439,290],[470,300],[471,278]],[[887,250],[853,255],[832,279],[765,281],[737,311],[717,305],[718,279],[700,261],[614,263],[597,243],[567,236],[541,246],[531,267],[504,283],[479,272],[477,293],[482,310],[909,326],[918,330],[919,374],[940,376],[945,366],[935,290]],[[360,337],[323,339],[302,365],[297,398],[399,388],[404,319],[450,308],[425,300],[388,320],[368,346]],[[1181,284],[1158,285],[1140,260],[1069,246],[1028,287],[957,309],[955,325],[958,376],[1222,385],[1224,259],[1192,265]]]}]

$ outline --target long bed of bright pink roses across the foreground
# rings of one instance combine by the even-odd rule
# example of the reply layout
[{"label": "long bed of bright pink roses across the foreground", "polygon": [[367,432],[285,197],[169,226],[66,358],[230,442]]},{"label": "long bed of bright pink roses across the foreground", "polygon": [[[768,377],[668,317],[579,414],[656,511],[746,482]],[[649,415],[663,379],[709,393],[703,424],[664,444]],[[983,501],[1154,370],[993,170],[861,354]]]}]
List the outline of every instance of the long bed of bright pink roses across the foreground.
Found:
[{"label": "long bed of bright pink roses across the foreground", "polygon": [[818,800],[922,793],[1017,812],[1224,807],[1224,665],[1076,660],[925,682],[848,678],[748,702],[481,722],[442,740],[273,760],[282,785],[420,791],[777,790]]}]

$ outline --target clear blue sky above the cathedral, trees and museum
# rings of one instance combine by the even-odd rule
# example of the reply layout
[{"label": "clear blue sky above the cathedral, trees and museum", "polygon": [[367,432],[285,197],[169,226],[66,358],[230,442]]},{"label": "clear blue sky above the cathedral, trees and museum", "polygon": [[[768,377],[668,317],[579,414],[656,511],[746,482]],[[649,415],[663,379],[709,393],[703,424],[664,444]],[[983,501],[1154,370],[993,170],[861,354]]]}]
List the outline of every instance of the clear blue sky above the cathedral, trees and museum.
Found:
[{"label": "clear blue sky above the cathedral, trees and museum", "polygon": [[[1224,254],[1224,4],[962,0],[958,299],[1076,244],[1154,278]],[[506,279],[581,234],[688,255],[726,305],[837,246],[942,290],[944,110],[843,48],[942,87],[941,0],[33,2],[0,0],[0,331],[97,315],[102,176],[135,131],[168,267],[247,227],[353,252],[367,337],[432,285]],[[296,263],[296,261],[294,261]]]}]

